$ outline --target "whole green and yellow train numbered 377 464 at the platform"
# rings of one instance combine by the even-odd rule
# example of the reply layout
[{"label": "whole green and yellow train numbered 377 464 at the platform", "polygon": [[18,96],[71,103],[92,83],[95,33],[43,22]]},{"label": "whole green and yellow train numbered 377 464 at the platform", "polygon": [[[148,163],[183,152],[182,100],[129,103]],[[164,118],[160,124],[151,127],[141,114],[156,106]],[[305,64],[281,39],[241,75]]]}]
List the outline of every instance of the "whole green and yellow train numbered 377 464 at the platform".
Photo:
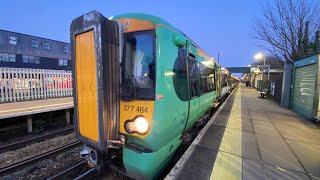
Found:
[{"label": "whole green and yellow train numbered 377 464 at the platform", "polygon": [[183,135],[239,82],[153,15],[91,11],[72,21],[70,40],[80,156],[134,179],[157,178]]}]

